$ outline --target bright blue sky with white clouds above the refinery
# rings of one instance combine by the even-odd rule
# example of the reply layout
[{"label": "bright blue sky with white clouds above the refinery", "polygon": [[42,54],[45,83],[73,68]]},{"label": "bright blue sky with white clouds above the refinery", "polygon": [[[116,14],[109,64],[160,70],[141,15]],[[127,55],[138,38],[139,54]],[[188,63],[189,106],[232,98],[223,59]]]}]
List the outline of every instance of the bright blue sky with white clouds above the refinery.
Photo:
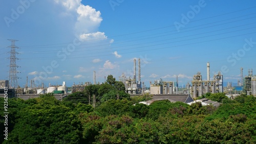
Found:
[{"label": "bright blue sky with white clouds above the refinery", "polygon": [[[16,39],[19,86],[104,82],[112,74],[141,80],[206,80],[221,71],[237,83],[240,68],[256,70],[255,1],[0,1],[1,80],[9,79],[7,46]],[[138,72],[137,72],[138,73]]]}]

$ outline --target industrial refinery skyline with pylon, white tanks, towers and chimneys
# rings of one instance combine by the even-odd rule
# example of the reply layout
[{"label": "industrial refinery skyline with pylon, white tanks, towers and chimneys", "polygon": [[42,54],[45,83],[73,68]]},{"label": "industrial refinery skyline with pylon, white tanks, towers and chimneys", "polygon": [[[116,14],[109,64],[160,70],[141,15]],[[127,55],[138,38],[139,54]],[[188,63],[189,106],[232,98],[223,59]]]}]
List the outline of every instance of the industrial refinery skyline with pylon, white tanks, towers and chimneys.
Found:
[{"label": "industrial refinery skyline with pylon, white tanks, towers and chimneys", "polygon": [[[16,54],[18,54],[15,50],[18,47],[15,45],[16,40],[10,40],[11,45],[8,46],[11,48],[10,51],[10,70],[9,70],[9,80],[0,80],[0,96],[4,95],[4,89],[9,89],[9,95],[12,97],[20,97],[20,95],[32,95],[32,94],[44,94],[44,93],[54,93],[59,95],[67,95],[74,92],[82,92],[84,88],[88,85],[92,85],[91,82],[84,82],[73,84],[72,87],[68,88],[66,82],[62,82],[61,85],[52,85],[49,83],[46,86],[44,83],[40,85],[35,85],[34,80],[30,81],[30,86],[28,84],[28,77],[25,87],[20,87],[18,85],[18,77],[17,73],[19,73],[16,68],[19,66],[16,65]],[[137,73],[137,60],[138,60],[138,73]],[[186,94],[190,95],[192,98],[196,99],[197,97],[201,97],[206,93],[221,93],[225,92],[227,95],[232,94],[247,94],[256,96],[256,76],[252,75],[252,69],[248,70],[248,75],[243,77],[243,68],[241,67],[241,79],[238,80],[236,86],[232,86],[232,83],[228,82],[227,86],[223,86],[223,75],[221,72],[215,74],[212,78],[210,78],[210,64],[209,62],[206,64],[207,69],[207,79],[203,80],[202,75],[198,72],[194,75],[193,79],[188,82],[185,87],[178,84],[178,76],[176,77],[176,81],[164,81],[162,79],[155,80],[154,83],[150,82],[150,87],[146,88],[144,82],[141,82],[141,66],[140,59],[134,59],[133,76],[129,76],[126,78],[124,74],[120,76],[120,81],[123,82],[125,86],[125,92],[131,95],[138,95],[144,93],[151,94],[167,94],[167,95],[179,95]],[[137,77],[138,74],[138,77]],[[93,84],[96,83],[96,73],[93,71]]]}]

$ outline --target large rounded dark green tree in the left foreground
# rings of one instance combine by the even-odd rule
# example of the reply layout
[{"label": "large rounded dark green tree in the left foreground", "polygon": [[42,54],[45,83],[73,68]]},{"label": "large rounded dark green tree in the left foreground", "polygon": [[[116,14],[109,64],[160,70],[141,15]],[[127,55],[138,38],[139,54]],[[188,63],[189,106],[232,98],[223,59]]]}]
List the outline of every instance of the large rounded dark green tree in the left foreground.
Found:
[{"label": "large rounded dark green tree in the left foreground", "polygon": [[36,104],[19,111],[10,143],[79,143],[80,121],[70,108],[54,97],[42,95]]}]

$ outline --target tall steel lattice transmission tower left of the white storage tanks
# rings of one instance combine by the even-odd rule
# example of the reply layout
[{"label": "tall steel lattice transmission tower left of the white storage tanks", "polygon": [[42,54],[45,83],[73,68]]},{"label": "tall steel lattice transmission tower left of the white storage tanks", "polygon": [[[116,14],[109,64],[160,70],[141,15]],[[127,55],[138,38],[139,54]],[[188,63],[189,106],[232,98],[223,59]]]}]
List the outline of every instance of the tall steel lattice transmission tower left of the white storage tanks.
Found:
[{"label": "tall steel lattice transmission tower left of the white storage tanks", "polygon": [[10,53],[10,70],[9,70],[9,88],[14,88],[16,89],[18,86],[18,81],[17,79],[19,79],[19,77],[17,77],[17,73],[20,73],[19,71],[16,70],[16,67],[19,67],[16,64],[16,60],[18,60],[18,58],[16,57],[16,54],[18,54],[16,52],[16,49],[18,49],[18,47],[15,45],[15,41],[14,39],[8,39],[9,41],[11,41],[11,45],[8,46],[8,48],[11,48]]}]

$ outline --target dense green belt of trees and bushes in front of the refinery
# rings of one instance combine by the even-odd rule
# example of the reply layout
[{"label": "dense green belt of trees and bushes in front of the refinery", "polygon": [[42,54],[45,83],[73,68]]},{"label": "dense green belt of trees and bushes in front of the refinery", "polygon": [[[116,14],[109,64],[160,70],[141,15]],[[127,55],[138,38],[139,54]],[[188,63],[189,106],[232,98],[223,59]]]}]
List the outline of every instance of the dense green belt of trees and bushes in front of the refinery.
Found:
[{"label": "dense green belt of trees and bushes in front of the refinery", "polygon": [[[52,94],[27,101],[9,99],[8,140],[4,140],[1,113],[0,143],[256,143],[252,95],[227,100],[218,108],[167,100],[144,105],[128,94],[116,100],[113,95],[124,90],[109,82],[63,101]],[[89,104],[91,94],[96,94],[96,108]]]}]

